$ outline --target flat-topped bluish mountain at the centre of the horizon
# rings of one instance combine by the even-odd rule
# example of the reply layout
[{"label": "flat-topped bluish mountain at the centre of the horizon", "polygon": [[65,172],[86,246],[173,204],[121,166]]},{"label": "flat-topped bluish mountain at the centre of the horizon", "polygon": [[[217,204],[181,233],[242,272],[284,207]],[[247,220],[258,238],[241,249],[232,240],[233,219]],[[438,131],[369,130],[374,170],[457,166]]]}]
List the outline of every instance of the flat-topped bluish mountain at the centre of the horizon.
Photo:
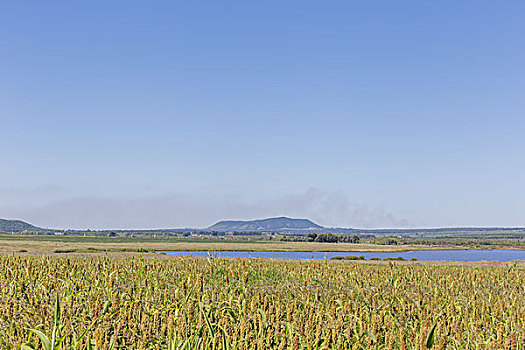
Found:
[{"label": "flat-topped bluish mountain at the centre of the horizon", "polygon": [[250,221],[219,221],[208,227],[212,231],[308,231],[323,230],[308,219],[290,219],[287,217],[269,218]]}]

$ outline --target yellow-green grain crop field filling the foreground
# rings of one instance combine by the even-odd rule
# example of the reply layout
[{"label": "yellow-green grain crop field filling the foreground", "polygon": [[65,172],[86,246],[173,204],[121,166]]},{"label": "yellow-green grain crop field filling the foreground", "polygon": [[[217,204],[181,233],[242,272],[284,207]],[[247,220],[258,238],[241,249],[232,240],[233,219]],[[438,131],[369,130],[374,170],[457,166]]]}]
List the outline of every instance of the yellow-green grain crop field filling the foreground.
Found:
[{"label": "yellow-green grain crop field filling the foreground", "polygon": [[0,256],[0,349],[525,349],[525,269]]}]

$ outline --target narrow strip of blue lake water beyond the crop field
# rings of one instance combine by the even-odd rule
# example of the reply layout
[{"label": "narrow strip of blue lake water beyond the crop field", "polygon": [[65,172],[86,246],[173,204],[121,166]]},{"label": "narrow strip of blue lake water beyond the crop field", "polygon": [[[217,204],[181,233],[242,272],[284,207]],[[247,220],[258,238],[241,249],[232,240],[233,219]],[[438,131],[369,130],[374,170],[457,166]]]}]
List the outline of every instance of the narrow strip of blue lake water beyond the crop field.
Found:
[{"label": "narrow strip of blue lake water beyond the crop field", "polygon": [[[158,251],[175,256],[208,256],[208,251]],[[210,251],[212,256],[221,258],[263,258],[263,259],[330,259],[334,256],[364,256],[365,259],[397,258],[421,261],[512,261],[525,260],[525,250],[414,250],[409,252],[248,252]]]}]

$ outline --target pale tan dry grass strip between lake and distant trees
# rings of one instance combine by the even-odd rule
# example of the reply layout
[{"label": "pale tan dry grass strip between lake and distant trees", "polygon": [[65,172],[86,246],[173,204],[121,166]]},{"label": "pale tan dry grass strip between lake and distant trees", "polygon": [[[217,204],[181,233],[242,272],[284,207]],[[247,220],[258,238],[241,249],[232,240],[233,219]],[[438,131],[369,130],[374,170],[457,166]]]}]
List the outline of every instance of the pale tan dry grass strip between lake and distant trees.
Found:
[{"label": "pale tan dry grass strip between lake and distant trees", "polygon": [[[0,252],[29,254],[126,253],[162,250],[235,250],[235,251],[360,251],[401,252],[432,249],[486,249],[497,246],[458,246],[436,244],[380,245],[355,243],[286,242],[278,240],[191,239],[153,237],[95,237],[54,235],[0,235]],[[510,248],[510,247],[505,247]]]}]

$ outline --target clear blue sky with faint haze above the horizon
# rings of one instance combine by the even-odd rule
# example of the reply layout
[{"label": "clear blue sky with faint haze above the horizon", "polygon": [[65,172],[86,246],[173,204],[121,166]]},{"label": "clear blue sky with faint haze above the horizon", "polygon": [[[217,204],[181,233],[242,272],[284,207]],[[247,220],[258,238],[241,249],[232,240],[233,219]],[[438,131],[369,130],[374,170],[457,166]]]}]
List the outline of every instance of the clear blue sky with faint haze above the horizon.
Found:
[{"label": "clear blue sky with faint haze above the horizon", "polygon": [[525,2],[4,1],[0,218],[525,226]]}]

